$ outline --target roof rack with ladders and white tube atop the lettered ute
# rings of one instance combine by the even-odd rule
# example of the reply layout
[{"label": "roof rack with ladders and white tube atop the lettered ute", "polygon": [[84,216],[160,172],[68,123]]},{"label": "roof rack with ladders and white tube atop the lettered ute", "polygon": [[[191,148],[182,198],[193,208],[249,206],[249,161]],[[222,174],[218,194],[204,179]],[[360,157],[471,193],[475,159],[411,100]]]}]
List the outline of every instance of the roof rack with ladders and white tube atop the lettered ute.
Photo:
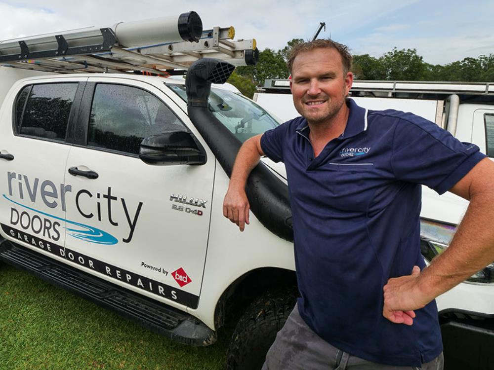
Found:
[{"label": "roof rack with ladders and white tube atop the lettered ute", "polygon": [[199,15],[191,11],[178,17],[0,41],[0,66],[54,73],[166,75],[187,70],[205,57],[237,66],[255,64],[259,58],[255,39],[234,41],[234,37],[233,26],[204,31]]}]

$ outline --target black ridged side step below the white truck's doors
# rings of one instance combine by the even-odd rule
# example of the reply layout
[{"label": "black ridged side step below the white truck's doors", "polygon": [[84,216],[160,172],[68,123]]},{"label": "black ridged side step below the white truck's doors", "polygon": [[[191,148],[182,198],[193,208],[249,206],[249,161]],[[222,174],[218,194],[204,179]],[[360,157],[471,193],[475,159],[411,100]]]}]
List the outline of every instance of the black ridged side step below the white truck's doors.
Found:
[{"label": "black ridged side step below the white truck's doors", "polygon": [[6,240],[0,243],[0,260],[116,311],[170,339],[192,346],[207,346],[216,341],[215,331],[185,312],[127,291],[17,244]]}]

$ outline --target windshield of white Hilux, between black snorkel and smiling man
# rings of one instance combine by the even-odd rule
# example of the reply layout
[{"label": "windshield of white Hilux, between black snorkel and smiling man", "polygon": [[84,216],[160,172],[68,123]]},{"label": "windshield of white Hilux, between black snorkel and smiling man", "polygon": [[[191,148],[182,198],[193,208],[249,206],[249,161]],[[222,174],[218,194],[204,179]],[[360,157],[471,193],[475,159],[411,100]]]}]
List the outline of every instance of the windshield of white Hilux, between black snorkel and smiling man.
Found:
[{"label": "windshield of white Hilux, between black snorkel and smiling man", "polygon": [[[185,85],[167,83],[166,86],[187,101]],[[209,94],[209,111],[241,142],[281,123],[242,95],[214,87]]]}]

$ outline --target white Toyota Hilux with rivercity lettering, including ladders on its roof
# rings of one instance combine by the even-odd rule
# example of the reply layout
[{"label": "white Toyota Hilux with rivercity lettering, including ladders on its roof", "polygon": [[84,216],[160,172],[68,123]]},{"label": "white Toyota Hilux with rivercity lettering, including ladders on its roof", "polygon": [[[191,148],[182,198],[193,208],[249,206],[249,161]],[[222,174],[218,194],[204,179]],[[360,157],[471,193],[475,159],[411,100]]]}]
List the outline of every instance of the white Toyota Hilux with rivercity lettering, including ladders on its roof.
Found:
[{"label": "white Toyota Hilux with rivercity lettering, including ladders on its roof", "polygon": [[[176,18],[0,42],[2,81],[36,74],[0,89],[0,259],[189,345],[241,307],[225,366],[260,369],[298,294],[283,165],[249,177],[243,233],[222,202],[242,142],[280,121],[223,84],[255,40]],[[454,227],[427,225],[441,250]],[[448,330],[494,313],[487,282],[448,295]]]}]

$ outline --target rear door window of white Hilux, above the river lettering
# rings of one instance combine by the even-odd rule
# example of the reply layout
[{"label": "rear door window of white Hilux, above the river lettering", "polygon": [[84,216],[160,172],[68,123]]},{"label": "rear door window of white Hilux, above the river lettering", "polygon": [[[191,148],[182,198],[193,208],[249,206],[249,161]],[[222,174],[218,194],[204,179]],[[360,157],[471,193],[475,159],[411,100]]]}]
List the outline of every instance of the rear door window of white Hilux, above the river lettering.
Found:
[{"label": "rear door window of white Hilux, above the river lettering", "polygon": [[[65,140],[77,86],[77,83],[34,85],[22,114],[19,133],[39,138]],[[23,93],[24,91],[19,100],[22,100]]]}]

